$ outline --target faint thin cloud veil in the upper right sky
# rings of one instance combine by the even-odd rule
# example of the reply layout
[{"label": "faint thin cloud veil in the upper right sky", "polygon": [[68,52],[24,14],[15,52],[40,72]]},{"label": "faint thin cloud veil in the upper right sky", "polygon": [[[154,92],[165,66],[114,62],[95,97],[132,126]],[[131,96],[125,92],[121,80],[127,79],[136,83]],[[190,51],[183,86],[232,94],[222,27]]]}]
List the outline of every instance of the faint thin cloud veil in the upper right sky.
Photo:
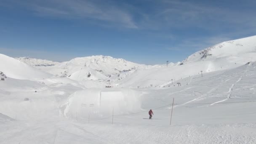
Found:
[{"label": "faint thin cloud veil in the upper right sky", "polygon": [[[248,1],[247,1],[248,2]],[[251,1],[249,1],[251,2]],[[254,2],[253,2],[254,3]],[[250,3],[248,3],[249,5]],[[160,0],[155,15],[150,14],[153,21],[165,27],[200,27],[215,30],[216,25],[237,27],[237,25],[255,26],[255,11],[237,11],[235,8],[217,7],[209,3],[192,3],[182,0]]]}]

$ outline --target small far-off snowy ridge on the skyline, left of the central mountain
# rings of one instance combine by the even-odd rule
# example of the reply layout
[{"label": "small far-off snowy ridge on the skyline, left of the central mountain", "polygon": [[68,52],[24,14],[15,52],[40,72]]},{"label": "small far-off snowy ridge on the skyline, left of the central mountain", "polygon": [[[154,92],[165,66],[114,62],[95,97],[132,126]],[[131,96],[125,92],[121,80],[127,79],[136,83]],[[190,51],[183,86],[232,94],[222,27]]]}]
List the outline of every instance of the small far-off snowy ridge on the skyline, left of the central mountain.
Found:
[{"label": "small far-off snowy ridge on the skyline, left of the central mountain", "polygon": [[39,66],[47,67],[47,66],[54,66],[56,64],[59,64],[59,62],[48,61],[45,59],[34,59],[34,58],[29,58],[29,57],[18,57],[15,59],[22,61],[26,64],[29,64],[31,66],[34,66],[34,67],[39,67]]}]

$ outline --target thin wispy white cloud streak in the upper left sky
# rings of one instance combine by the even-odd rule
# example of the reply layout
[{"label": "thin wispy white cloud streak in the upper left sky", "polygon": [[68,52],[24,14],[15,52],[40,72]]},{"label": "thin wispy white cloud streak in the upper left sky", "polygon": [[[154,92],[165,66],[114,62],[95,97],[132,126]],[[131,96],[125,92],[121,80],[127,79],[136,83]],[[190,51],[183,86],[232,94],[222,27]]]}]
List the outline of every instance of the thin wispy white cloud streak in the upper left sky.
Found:
[{"label": "thin wispy white cloud streak in the upper left sky", "polygon": [[[115,3],[98,0],[3,0],[5,5],[19,5],[33,11],[37,16],[64,19],[101,21],[115,27],[137,29],[133,16]],[[11,4],[10,4],[11,3]]]}]

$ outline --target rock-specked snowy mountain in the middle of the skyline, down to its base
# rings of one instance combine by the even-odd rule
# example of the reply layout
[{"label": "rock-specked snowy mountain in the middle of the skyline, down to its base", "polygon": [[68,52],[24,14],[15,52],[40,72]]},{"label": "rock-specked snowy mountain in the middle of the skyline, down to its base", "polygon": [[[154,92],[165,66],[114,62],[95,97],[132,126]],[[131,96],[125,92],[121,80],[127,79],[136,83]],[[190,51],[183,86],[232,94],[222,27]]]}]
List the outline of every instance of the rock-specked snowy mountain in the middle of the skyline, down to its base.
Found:
[{"label": "rock-specked snowy mountain in the middle of the skyline, down to its base", "polygon": [[75,58],[50,67],[37,67],[57,77],[68,77],[86,87],[113,86],[130,75],[135,69],[146,67],[124,59],[115,59],[111,56],[89,56]]}]

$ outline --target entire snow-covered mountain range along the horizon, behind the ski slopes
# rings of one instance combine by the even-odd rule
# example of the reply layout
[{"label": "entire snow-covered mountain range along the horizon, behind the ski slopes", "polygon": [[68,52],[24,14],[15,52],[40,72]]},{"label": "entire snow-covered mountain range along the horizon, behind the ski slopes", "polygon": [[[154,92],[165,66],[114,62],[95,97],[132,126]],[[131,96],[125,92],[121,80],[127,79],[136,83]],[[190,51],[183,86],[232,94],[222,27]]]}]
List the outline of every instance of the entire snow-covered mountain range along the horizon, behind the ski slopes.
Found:
[{"label": "entire snow-covered mountain range along the horizon, behind the ski slopes", "polygon": [[[256,60],[256,36],[213,45],[193,53],[182,62],[163,65],[136,64],[111,56],[88,56],[65,62],[0,55],[0,71],[7,77],[41,80],[46,83],[69,81],[87,88],[163,87],[171,81],[205,72],[231,69]],[[18,61],[19,60],[19,61]],[[3,62],[4,61],[4,62]],[[25,64],[26,63],[26,64]],[[57,78],[59,77],[59,78]],[[50,80],[50,79],[55,80]],[[46,81],[46,79],[48,81]]]}]

